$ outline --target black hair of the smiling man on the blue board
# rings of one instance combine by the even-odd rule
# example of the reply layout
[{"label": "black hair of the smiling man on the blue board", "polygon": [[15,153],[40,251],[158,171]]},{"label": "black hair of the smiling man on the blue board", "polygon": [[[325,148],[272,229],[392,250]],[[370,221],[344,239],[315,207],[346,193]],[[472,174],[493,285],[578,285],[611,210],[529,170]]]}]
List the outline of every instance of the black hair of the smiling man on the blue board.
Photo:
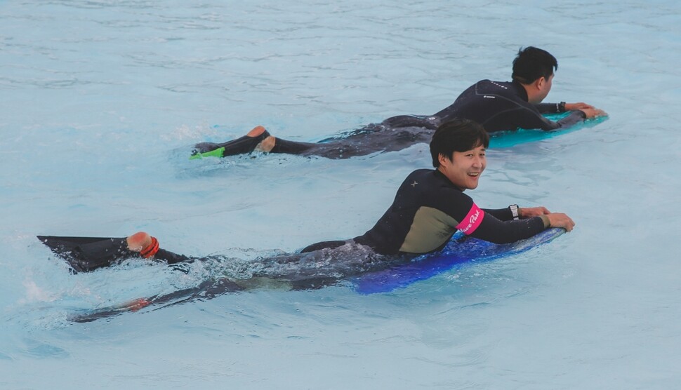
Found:
[{"label": "black hair of the smiling man on the blue board", "polygon": [[482,126],[469,119],[451,119],[437,127],[430,140],[430,156],[432,166],[439,167],[439,155],[451,161],[454,152],[466,152],[470,149],[489,147],[489,134]]}]

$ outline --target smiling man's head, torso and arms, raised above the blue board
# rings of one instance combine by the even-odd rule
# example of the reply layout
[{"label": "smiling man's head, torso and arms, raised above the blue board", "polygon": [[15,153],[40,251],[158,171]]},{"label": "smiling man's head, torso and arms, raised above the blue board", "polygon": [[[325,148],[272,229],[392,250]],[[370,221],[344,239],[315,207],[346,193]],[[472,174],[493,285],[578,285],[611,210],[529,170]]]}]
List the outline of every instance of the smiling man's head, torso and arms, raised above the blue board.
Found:
[{"label": "smiling man's head, torso and arms, raised above the blue board", "polygon": [[457,231],[493,243],[529,238],[548,227],[570,231],[574,222],[545,207],[479,208],[466,189],[475,189],[487,166],[489,135],[479,124],[454,119],[439,126],[430,142],[435,170],[412,172],[395,201],[356,243],[383,254],[428,253],[442,248]]}]

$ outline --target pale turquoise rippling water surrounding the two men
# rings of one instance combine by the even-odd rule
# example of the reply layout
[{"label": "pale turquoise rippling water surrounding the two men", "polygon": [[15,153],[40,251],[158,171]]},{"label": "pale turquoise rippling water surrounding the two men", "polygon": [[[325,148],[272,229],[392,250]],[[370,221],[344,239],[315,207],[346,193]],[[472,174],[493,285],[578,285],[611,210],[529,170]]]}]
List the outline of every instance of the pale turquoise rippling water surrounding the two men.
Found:
[{"label": "pale turquoise rippling water surrounding the two men", "polygon": [[[674,1],[0,2],[0,387],[679,387],[680,15]],[[610,117],[491,149],[472,196],[564,211],[571,234],[387,294],[263,289],[68,321],[216,270],[74,276],[36,234],[145,230],[244,261],[362,234],[429,166],[426,145],[189,161],[191,145],[432,114],[508,79],[527,45],[559,60],[548,101]]]}]

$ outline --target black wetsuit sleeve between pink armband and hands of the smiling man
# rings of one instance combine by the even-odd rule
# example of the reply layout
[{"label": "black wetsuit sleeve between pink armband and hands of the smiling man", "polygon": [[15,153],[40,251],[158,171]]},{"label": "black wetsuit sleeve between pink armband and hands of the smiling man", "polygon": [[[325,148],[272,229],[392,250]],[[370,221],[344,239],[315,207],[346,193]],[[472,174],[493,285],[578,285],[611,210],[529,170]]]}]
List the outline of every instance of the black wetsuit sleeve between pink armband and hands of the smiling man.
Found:
[{"label": "black wetsuit sleeve between pink armband and hands of the smiling man", "polygon": [[539,234],[544,229],[546,224],[542,217],[501,221],[491,213],[485,213],[480,226],[470,235],[492,243],[513,243]]}]

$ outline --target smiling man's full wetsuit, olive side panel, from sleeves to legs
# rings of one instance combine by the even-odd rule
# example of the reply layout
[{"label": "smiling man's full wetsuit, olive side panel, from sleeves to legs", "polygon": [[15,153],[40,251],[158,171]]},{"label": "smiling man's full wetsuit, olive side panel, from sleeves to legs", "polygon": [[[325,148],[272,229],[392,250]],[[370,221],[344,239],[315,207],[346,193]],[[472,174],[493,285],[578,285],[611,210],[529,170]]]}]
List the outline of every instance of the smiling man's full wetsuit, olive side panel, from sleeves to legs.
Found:
[{"label": "smiling man's full wetsuit, olive side panel, from sleeves to legs", "polygon": [[[485,241],[510,243],[534,236],[546,227],[546,217],[513,220],[509,208],[478,208],[439,170],[420,169],[406,177],[392,206],[362,236],[322,241],[299,253],[260,258],[251,276],[286,281],[295,288],[319,287],[440,250],[457,230]],[[56,253],[75,271],[92,271],[139,256],[127,249],[125,238],[94,240]],[[168,264],[195,260],[163,249],[154,257]]]}]

